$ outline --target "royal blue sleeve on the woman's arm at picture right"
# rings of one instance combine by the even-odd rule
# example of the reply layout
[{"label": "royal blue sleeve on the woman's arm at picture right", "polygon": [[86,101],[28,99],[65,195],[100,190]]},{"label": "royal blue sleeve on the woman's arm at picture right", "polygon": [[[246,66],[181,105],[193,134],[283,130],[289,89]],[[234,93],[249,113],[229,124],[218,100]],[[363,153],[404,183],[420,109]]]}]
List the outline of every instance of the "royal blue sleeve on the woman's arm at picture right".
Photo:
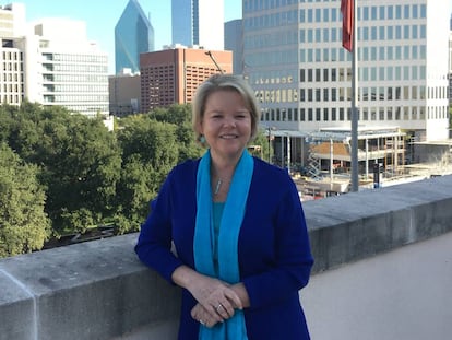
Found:
[{"label": "royal blue sleeve on the woman's arm at picture right", "polygon": [[[308,284],[313,258],[298,190],[292,179],[274,216],[274,259],[266,270],[243,278],[250,308],[277,304]],[[258,241],[259,242],[259,241]]]}]

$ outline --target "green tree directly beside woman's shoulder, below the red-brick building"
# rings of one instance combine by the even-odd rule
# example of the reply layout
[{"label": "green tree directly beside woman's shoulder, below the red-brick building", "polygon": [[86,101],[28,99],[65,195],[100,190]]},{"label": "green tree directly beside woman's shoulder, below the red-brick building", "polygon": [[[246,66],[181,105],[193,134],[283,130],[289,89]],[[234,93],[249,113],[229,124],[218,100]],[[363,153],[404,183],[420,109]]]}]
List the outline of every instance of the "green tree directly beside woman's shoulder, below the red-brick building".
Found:
[{"label": "green tree directly beside woman's shoulder, below the red-brick building", "polygon": [[122,218],[117,215],[116,223],[123,233],[136,231],[146,218],[150,200],[179,160],[179,145],[174,124],[156,121],[146,115],[122,119],[117,136],[123,161],[116,197],[117,211]]}]

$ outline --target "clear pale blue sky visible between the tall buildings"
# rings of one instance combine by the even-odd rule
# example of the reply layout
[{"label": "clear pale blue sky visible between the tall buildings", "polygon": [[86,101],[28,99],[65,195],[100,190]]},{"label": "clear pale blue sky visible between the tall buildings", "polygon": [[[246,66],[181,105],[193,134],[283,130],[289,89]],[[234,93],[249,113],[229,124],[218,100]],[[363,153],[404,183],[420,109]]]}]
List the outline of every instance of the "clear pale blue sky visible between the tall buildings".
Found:
[{"label": "clear pale blue sky visible between the tall buildings", "polygon": [[[452,0],[451,0],[452,1]],[[26,20],[68,17],[86,23],[87,38],[108,54],[108,72],[115,73],[115,26],[129,0],[12,0],[25,4]],[[139,0],[154,27],[155,49],[171,43],[171,0]],[[224,0],[225,22],[241,19],[241,0]]]}]

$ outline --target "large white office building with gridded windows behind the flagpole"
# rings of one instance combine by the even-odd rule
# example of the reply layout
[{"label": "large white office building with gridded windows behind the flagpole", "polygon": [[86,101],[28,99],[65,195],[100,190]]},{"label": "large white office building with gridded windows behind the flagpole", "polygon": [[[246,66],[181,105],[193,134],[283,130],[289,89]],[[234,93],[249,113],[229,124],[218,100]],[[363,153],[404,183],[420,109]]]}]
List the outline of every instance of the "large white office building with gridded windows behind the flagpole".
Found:
[{"label": "large white office building with gridded windows behind the flagpole", "polygon": [[[449,3],[357,2],[360,126],[399,127],[417,140],[449,137]],[[341,1],[243,1],[245,75],[262,124],[316,131],[350,125],[352,55]]]}]

